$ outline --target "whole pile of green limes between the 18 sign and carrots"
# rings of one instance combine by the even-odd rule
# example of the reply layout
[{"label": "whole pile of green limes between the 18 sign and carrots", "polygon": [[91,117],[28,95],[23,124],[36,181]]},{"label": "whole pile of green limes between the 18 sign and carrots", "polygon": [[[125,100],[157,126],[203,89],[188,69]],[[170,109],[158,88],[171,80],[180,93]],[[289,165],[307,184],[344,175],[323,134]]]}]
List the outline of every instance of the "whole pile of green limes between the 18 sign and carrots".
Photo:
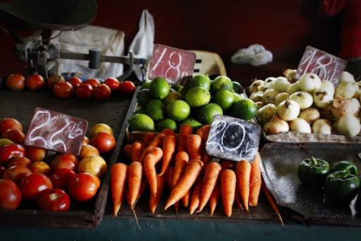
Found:
[{"label": "whole pile of green limes between the 18 sign and carrots", "polygon": [[144,82],[137,92],[138,107],[128,120],[129,130],[178,132],[188,124],[196,131],[211,124],[215,114],[252,119],[257,113],[254,101],[243,98],[242,86],[227,76],[210,80],[195,75],[186,85],[169,85],[164,78]]}]

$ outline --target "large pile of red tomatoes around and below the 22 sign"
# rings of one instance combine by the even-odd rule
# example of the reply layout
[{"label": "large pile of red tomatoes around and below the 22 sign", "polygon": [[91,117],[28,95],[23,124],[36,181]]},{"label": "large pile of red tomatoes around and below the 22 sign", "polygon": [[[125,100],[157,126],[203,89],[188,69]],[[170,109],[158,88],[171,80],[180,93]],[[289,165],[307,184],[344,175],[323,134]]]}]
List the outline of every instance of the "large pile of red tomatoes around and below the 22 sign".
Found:
[{"label": "large pile of red tomatoes around and below the 22 sign", "polygon": [[14,118],[0,121],[0,137],[0,209],[18,209],[23,204],[66,211],[72,202],[90,202],[106,173],[102,154],[116,145],[104,123],[91,128],[78,156],[51,156],[46,149],[25,146],[23,126]]}]

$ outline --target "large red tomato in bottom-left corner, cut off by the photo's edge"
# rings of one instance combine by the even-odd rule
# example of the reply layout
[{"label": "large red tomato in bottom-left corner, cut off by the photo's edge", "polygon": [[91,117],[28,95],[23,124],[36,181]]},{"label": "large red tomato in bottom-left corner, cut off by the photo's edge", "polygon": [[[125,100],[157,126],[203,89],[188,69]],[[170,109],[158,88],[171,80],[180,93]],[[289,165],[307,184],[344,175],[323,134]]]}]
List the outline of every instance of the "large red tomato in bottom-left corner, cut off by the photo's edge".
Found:
[{"label": "large red tomato in bottom-left corner, cut off by the photo's edge", "polygon": [[0,209],[17,209],[21,202],[21,192],[12,180],[0,180]]}]

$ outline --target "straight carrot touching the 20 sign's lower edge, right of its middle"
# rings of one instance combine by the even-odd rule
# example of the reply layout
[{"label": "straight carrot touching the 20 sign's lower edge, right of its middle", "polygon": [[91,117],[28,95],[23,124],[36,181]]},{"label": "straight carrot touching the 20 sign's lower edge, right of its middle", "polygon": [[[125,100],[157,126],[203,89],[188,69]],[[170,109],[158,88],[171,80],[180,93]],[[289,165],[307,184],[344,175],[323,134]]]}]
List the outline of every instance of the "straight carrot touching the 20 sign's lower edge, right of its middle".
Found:
[{"label": "straight carrot touching the 20 sign's lower edge, right of its middle", "polygon": [[245,211],[248,211],[251,164],[244,160],[238,161],[235,165],[235,173],[237,175],[238,188],[240,190],[240,197],[242,199],[243,206],[245,206]]}]

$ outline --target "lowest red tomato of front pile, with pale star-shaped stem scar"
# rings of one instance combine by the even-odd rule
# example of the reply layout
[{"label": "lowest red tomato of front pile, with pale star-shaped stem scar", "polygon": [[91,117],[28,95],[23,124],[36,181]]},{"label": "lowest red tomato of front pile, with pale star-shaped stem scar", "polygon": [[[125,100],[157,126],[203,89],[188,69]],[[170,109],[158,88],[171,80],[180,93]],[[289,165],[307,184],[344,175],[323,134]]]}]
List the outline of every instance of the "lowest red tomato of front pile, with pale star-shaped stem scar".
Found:
[{"label": "lowest red tomato of front pile, with pale star-shaped stem scar", "polygon": [[67,211],[71,206],[69,195],[61,189],[54,188],[39,194],[37,199],[39,209],[49,211]]}]

